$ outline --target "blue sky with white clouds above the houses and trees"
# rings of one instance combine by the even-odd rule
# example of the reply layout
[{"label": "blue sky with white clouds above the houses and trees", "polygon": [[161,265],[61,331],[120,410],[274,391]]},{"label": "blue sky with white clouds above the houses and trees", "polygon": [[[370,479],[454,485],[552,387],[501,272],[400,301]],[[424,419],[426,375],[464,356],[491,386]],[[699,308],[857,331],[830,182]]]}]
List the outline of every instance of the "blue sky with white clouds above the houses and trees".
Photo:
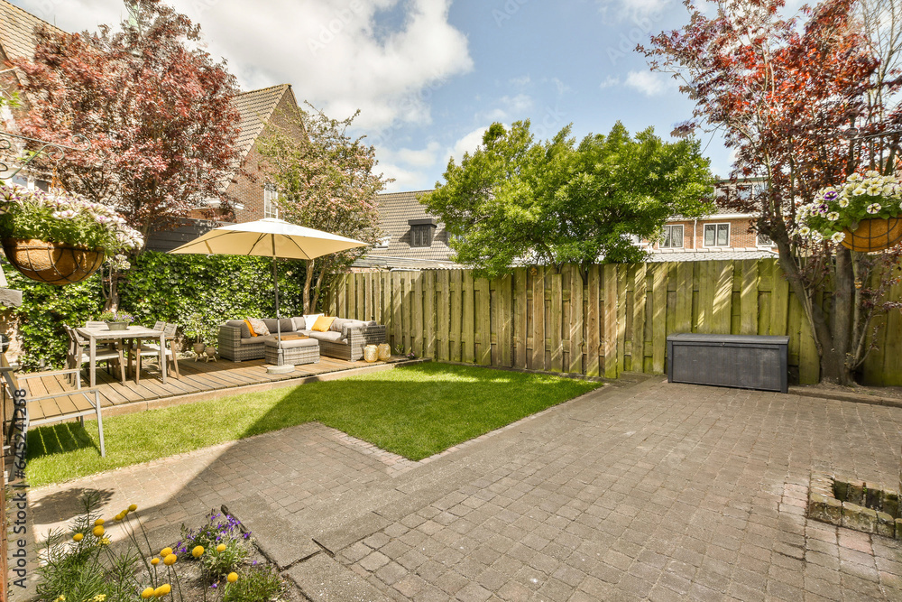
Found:
[{"label": "blue sky with white clouds above the houses and trees", "polygon": [[[67,31],[116,23],[118,0],[13,0]],[[632,51],[686,23],[675,0],[172,0],[200,23],[208,50],[244,89],[290,83],[299,101],[355,122],[377,149],[388,190],[423,190],[449,156],[479,144],[494,121],[530,119],[538,138],[669,137],[691,116],[676,82]],[[729,171],[705,137],[715,174]]]}]

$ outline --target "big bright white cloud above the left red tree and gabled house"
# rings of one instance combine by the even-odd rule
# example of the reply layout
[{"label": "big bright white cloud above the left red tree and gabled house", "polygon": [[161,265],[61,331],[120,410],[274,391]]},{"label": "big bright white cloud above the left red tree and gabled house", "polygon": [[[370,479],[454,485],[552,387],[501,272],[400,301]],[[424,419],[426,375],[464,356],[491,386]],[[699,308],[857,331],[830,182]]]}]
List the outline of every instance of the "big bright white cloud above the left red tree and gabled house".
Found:
[{"label": "big bright white cloud above the left red tree and gabled house", "polygon": [[[67,31],[117,23],[110,0],[22,0]],[[359,127],[429,123],[429,99],[473,67],[464,33],[448,23],[451,0],[171,0],[199,23],[244,89],[293,85],[327,115],[361,115]],[[398,15],[402,14],[402,18]],[[385,26],[383,23],[400,23]]]}]

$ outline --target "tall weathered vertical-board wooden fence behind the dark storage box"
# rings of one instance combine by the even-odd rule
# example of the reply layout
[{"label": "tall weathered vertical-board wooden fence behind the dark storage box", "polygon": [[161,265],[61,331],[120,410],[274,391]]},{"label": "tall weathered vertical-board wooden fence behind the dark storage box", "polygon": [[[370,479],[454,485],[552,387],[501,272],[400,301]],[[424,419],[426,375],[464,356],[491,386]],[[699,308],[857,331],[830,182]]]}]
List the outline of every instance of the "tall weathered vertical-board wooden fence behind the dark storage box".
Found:
[{"label": "tall weathered vertical-board wooden fence behind the dark storage box", "polygon": [[[902,290],[892,292],[902,298]],[[829,310],[830,300],[824,300]],[[526,267],[498,279],[467,270],[351,273],[333,315],[385,324],[392,348],[483,366],[615,378],[661,374],[675,332],[789,335],[791,382],[816,383],[815,340],[775,259]],[[880,320],[870,384],[902,384],[902,320]]]}]

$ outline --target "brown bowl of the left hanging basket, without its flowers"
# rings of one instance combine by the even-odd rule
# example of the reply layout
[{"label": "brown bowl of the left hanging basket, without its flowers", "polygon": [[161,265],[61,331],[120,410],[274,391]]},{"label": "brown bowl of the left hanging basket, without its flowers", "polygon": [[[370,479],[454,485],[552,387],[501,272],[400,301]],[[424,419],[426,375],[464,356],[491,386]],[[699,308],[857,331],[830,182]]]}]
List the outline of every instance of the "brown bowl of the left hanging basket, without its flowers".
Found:
[{"label": "brown bowl of the left hanging basket, without its flowers", "polygon": [[104,263],[102,249],[86,249],[43,240],[5,238],[6,259],[23,275],[37,282],[73,284],[85,280]]}]

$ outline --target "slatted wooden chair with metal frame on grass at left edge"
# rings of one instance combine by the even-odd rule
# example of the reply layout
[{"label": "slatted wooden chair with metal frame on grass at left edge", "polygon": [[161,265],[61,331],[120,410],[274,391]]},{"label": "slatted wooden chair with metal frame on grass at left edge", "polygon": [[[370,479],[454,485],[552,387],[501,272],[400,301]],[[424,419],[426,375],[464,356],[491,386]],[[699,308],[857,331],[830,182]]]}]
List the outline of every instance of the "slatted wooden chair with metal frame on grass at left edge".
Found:
[{"label": "slatted wooden chair with metal frame on grass at left edge", "polygon": [[[25,407],[23,421],[17,421],[17,414],[14,413],[12,424],[7,430],[7,441],[12,440],[13,427],[21,426],[23,429],[23,437],[28,431],[29,426],[40,426],[49,422],[67,421],[78,418],[81,426],[85,426],[85,416],[97,416],[97,431],[100,434],[100,455],[106,457],[106,446],[104,443],[104,419],[100,412],[100,393],[97,387],[90,389],[81,388],[81,370],[54,370],[52,372],[42,372],[34,375],[15,375],[13,368],[6,361],[6,356],[0,354],[0,373],[3,374],[4,394],[9,398],[15,399],[15,392],[23,392],[25,394]],[[73,391],[60,391],[52,394],[39,394],[31,396],[28,390],[28,381],[33,378],[43,378],[45,376],[57,375],[75,375],[76,388]],[[31,404],[34,405],[31,405]],[[18,412],[18,411],[16,411]]]}]

